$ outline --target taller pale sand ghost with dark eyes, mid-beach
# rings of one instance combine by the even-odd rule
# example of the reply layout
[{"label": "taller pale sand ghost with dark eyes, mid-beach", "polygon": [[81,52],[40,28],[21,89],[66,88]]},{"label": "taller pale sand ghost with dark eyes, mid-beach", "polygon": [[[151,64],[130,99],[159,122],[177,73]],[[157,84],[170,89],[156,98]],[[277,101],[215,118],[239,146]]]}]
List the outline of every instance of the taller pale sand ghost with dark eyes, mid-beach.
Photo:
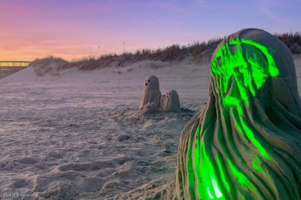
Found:
[{"label": "taller pale sand ghost with dark eyes, mid-beach", "polygon": [[156,76],[151,75],[146,78],[140,101],[140,110],[147,112],[159,110],[161,97],[159,87],[159,79]]}]

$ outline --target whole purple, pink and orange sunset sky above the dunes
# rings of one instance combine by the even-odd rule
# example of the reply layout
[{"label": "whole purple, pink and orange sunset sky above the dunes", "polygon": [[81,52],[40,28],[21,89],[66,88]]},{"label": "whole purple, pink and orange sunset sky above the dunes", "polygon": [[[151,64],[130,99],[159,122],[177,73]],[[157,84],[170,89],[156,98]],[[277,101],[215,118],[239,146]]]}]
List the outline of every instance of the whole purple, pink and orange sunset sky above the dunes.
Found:
[{"label": "whole purple, pink and orange sunset sky above the dunes", "polygon": [[0,61],[66,60],[225,36],[301,31],[301,0],[0,0]]}]

